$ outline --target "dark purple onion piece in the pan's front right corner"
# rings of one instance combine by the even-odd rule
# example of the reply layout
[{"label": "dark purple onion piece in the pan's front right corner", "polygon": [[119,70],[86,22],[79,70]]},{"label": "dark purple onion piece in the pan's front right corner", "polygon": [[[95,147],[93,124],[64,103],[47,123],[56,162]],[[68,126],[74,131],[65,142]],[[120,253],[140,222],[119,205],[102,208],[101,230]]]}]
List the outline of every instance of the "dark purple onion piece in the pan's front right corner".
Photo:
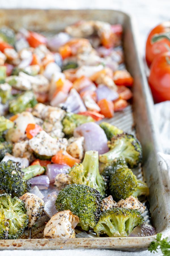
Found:
[{"label": "dark purple onion piece in the pan's front right corner", "polygon": [[135,227],[133,231],[129,234],[129,236],[153,236],[156,234],[156,229],[152,225],[148,223],[143,223],[141,226]]}]

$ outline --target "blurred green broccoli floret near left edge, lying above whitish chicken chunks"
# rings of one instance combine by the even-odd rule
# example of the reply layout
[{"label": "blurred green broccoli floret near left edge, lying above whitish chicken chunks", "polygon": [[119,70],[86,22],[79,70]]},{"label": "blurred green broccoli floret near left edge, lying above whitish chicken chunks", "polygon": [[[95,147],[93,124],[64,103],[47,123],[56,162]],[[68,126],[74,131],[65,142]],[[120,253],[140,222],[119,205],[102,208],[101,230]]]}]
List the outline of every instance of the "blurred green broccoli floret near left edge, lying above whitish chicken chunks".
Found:
[{"label": "blurred green broccoli floret near left edge, lying above whitish chicken chunks", "polygon": [[14,114],[21,113],[26,108],[32,108],[36,104],[37,100],[35,99],[33,92],[24,92],[9,102],[9,112]]}]

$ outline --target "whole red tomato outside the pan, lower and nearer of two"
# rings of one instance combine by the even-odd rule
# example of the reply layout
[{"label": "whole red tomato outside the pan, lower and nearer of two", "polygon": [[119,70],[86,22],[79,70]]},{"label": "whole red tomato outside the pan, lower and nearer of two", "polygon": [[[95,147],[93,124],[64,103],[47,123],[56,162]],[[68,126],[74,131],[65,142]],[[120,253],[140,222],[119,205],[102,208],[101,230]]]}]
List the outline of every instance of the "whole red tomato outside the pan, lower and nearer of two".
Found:
[{"label": "whole red tomato outside the pan, lower and nearer of two", "polygon": [[150,66],[149,85],[156,102],[170,100],[170,52],[157,55]]}]

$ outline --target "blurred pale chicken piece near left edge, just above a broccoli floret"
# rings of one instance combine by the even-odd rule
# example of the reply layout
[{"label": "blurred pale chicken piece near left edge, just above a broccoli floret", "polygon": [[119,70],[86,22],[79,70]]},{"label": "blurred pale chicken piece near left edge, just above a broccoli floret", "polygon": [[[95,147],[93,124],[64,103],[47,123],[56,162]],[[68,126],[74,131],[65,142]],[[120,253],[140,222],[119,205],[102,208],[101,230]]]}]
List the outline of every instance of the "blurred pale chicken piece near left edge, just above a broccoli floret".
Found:
[{"label": "blurred pale chicken piece near left edge, just above a broccoli floret", "polygon": [[[20,72],[20,74],[23,72]],[[25,74],[26,75],[26,74]],[[31,90],[31,82],[22,76],[9,76],[6,77],[5,82],[10,84],[12,87],[19,90]]]}]

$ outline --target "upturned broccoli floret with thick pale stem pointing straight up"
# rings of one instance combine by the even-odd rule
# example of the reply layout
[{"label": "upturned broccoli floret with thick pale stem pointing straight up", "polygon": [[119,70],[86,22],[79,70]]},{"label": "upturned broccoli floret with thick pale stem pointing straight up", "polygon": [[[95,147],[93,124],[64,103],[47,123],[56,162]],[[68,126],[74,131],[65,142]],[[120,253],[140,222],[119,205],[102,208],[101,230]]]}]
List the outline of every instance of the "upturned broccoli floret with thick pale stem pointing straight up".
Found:
[{"label": "upturned broccoli floret with thick pale stem pointing straight up", "polygon": [[99,155],[97,151],[87,151],[82,164],[73,166],[69,175],[72,177],[73,183],[87,185],[97,189],[102,196],[105,195],[105,180],[99,174]]}]

